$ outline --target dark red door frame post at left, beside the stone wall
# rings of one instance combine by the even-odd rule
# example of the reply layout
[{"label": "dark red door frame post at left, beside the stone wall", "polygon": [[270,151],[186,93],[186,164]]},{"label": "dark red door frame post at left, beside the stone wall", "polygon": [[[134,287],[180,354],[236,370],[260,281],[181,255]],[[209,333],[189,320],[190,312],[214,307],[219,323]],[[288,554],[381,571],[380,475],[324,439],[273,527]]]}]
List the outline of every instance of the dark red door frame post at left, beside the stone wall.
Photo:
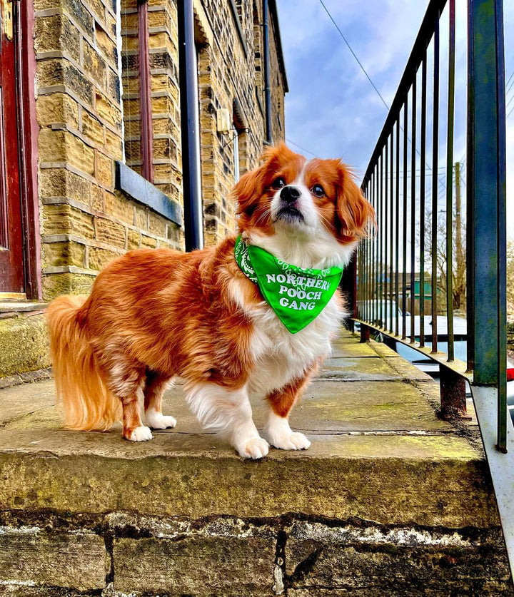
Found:
[{"label": "dark red door frame post at left, beside the stone wall", "polygon": [[21,210],[24,227],[25,291],[28,299],[41,300],[41,233],[36,118],[36,54],[34,51],[34,2],[14,0],[16,74],[20,147]]}]

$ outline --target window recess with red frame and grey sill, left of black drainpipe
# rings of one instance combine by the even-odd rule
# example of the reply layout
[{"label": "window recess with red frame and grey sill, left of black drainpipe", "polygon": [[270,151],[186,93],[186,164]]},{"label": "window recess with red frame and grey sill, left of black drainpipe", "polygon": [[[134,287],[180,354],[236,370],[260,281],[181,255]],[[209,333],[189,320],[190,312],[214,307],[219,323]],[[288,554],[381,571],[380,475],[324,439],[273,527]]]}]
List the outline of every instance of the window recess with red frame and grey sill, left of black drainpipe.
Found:
[{"label": "window recess with red frame and grey sill, left of black drainpipe", "polygon": [[[166,98],[161,97],[161,93],[157,112],[151,99],[151,68],[161,68],[161,78],[164,78],[163,72],[173,68],[172,61],[168,58],[168,49],[156,47],[155,43],[150,53],[150,35],[158,36],[160,32],[148,31],[147,0],[120,0],[117,6],[116,38],[124,152],[123,161],[116,161],[114,187],[127,198],[181,226],[180,183],[177,183],[177,178],[180,181],[177,175],[179,138],[177,135],[158,134],[168,131],[167,119],[171,119],[175,105],[169,97],[171,92]],[[164,13],[166,10],[165,6],[153,6],[152,14],[156,18],[159,17],[158,11]],[[146,224],[143,220],[137,224],[134,221],[134,225],[143,232],[151,232],[150,221],[148,219]],[[166,228],[166,234],[168,230]]]}]

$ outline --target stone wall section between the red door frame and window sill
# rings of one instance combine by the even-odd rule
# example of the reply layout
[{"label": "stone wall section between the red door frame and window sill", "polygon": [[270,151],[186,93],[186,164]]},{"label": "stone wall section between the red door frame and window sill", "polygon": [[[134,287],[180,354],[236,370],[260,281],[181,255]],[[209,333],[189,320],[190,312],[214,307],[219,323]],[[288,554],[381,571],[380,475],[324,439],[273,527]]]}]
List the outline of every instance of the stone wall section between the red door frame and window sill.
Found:
[{"label": "stone wall section between the red door frame and window sill", "polygon": [[115,0],[35,0],[43,295],[88,292],[109,260],[180,247],[176,225],[114,190],[122,158]]}]

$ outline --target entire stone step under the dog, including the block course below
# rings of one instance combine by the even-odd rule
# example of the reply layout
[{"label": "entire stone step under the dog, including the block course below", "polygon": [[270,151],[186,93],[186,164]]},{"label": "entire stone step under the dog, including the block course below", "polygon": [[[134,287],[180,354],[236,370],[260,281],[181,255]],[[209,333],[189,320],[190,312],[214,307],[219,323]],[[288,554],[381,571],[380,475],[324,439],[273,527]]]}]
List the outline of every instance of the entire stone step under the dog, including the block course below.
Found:
[{"label": "entire stone step under the dog, including the block course below", "polygon": [[245,461],[180,384],[139,444],[61,429],[51,380],[1,390],[0,595],[513,595],[475,425],[437,400],[346,333],[291,415],[311,448]]}]

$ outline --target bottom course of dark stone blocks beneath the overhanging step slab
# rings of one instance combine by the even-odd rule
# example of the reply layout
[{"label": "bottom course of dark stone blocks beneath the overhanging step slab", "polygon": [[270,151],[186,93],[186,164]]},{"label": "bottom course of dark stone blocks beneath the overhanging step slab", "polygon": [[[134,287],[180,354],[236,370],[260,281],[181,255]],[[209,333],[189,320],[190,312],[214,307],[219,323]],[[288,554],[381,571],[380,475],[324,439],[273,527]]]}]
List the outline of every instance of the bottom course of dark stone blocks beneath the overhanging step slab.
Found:
[{"label": "bottom course of dark stone blocks beneath the overhanging step slab", "polygon": [[301,516],[4,511],[0,579],[11,597],[514,594],[500,529]]}]

